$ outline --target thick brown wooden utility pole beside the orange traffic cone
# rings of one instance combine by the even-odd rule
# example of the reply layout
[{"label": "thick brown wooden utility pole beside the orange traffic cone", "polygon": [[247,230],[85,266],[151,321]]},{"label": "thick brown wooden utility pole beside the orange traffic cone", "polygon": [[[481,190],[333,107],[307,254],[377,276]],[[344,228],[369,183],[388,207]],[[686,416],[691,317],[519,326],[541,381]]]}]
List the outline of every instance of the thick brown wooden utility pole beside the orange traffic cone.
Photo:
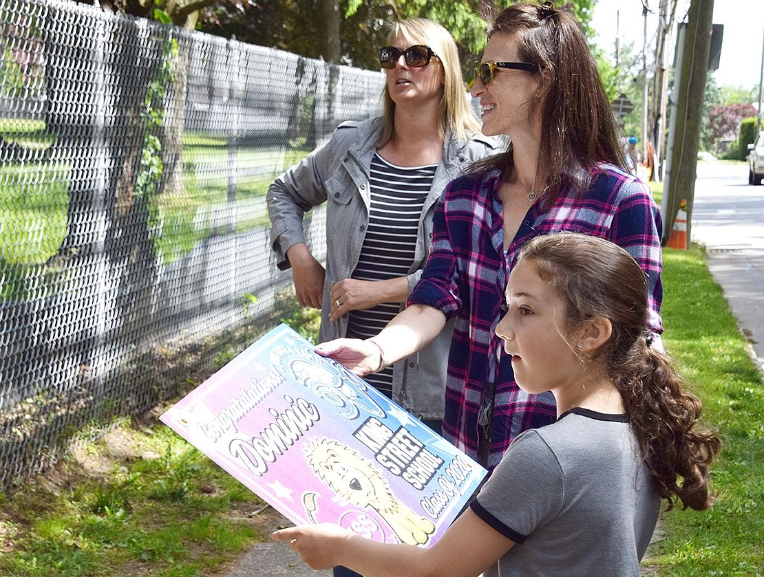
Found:
[{"label": "thick brown wooden utility pole beside the orange traffic cone", "polygon": [[[711,48],[711,29],[714,0],[691,0],[681,50],[677,59],[674,83],[675,109],[669,135],[667,176],[662,199],[663,238],[669,240],[681,201],[687,203],[687,238],[690,238],[692,201],[695,190],[695,171],[698,168],[698,145],[701,133],[701,111],[708,72],[708,52]],[[680,34],[680,37],[682,35]],[[686,247],[685,247],[686,248]]]}]

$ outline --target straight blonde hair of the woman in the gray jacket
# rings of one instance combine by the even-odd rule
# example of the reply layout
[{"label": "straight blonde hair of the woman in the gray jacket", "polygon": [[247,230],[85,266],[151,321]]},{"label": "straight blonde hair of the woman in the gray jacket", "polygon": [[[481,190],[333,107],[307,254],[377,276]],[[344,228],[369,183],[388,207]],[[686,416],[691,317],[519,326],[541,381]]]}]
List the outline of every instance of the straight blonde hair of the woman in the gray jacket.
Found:
[{"label": "straight blonde hair of the woman in the gray jacket", "polygon": [[[426,18],[409,18],[390,25],[387,41],[392,43],[398,36],[403,36],[412,44],[426,44],[437,54],[443,65],[443,94],[438,108],[438,131],[443,140],[448,129],[456,140],[462,142],[474,134],[480,134],[480,121],[467,98],[464,81],[461,79],[459,53],[452,35],[440,24]],[[431,65],[432,60],[428,66]],[[387,85],[382,92],[382,102],[384,128],[377,147],[384,147],[393,136],[395,102],[387,92]]]}]

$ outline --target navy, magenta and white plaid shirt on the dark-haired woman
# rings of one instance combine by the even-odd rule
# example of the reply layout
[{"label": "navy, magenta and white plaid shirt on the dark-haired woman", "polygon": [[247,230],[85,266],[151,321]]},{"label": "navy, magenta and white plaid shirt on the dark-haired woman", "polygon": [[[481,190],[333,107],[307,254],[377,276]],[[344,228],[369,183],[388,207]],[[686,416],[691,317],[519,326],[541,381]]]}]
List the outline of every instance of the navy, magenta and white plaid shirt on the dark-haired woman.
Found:
[{"label": "navy, magenta and white plaid shirt on the dark-haired woman", "polygon": [[507,277],[520,247],[539,234],[572,230],[623,247],[646,272],[649,328],[662,332],[659,209],[647,186],[610,164],[594,171],[581,195],[561,194],[551,206],[529,208],[503,250],[498,170],[452,181],[435,210],[432,252],[408,304],[430,305],[456,317],[448,356],[443,435],[474,459],[487,431],[487,463],[499,463],[523,430],[555,420],[552,394],[529,395],[514,380],[510,356],[495,334]]}]

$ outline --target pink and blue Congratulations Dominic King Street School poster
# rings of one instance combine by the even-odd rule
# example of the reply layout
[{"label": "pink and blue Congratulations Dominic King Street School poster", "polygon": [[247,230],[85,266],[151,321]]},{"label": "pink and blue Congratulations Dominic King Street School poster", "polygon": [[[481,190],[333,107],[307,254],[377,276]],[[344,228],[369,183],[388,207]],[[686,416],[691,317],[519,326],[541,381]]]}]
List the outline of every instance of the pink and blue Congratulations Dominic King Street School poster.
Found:
[{"label": "pink and blue Congratulations Dominic King Street School poster", "polygon": [[485,469],[286,324],[161,415],[295,524],[429,546]]}]

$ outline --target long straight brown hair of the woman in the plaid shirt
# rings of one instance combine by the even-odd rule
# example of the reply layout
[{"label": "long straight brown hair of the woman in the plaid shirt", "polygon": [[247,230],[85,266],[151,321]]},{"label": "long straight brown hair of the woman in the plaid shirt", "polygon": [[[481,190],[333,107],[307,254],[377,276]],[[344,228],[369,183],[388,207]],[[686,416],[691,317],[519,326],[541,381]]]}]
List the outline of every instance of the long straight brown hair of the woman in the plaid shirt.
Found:
[{"label": "long straight brown hair of the woman in the plaid shirt", "polygon": [[[520,60],[538,64],[537,74],[549,79],[541,109],[540,163],[549,171],[545,176],[550,191],[555,191],[550,197],[563,182],[577,192],[588,189],[597,163],[626,169],[613,110],[575,16],[539,5],[514,5],[494,18],[488,37],[494,34],[517,40]],[[473,168],[502,169],[504,179],[510,179],[512,147]]]}]

